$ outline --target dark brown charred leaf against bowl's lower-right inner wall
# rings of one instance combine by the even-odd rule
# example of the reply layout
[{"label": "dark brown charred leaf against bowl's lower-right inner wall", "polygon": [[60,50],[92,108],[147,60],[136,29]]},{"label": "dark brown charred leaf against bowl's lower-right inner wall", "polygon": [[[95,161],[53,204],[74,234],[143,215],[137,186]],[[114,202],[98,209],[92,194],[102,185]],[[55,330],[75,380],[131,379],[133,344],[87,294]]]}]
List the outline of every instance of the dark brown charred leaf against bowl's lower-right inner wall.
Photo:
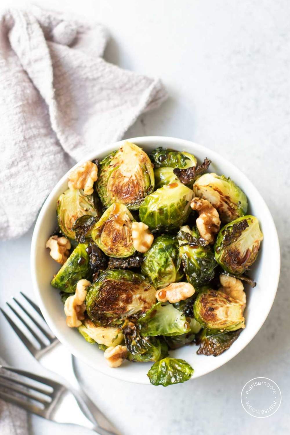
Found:
[{"label": "dark brown charred leaf against bowl's lower-right inner wall", "polygon": [[202,331],[202,334],[199,338],[198,344],[200,344],[200,348],[197,351],[197,355],[213,355],[218,356],[223,351],[226,351],[230,348],[234,341],[240,335],[242,329],[237,329],[237,331],[227,331],[221,332],[219,334],[211,334],[206,329]]}]

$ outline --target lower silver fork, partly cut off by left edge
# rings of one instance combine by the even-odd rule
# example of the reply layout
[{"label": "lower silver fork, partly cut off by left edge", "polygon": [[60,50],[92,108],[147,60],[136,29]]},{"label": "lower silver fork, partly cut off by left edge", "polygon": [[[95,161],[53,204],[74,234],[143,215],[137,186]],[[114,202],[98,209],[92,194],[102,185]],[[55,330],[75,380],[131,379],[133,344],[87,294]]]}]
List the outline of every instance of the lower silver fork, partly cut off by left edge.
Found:
[{"label": "lower silver fork, partly cut off by left edge", "polygon": [[[69,388],[29,371],[3,365],[0,365],[0,369],[0,398],[6,402],[53,422],[79,425],[100,433],[99,428],[85,417]],[[8,376],[2,372],[8,372]],[[12,378],[11,372],[19,375],[20,379]],[[38,386],[27,382],[27,378],[37,381]]]}]

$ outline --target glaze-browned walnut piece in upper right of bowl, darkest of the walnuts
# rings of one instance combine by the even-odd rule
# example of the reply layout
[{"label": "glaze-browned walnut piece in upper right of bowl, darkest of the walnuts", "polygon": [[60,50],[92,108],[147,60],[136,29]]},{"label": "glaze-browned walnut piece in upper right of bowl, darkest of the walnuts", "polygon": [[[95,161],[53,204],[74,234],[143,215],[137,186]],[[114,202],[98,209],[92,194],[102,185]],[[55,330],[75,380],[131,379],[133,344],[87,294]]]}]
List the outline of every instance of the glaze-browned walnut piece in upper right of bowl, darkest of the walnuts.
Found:
[{"label": "glaze-browned walnut piece in upper right of bowl, darkest of the walnuts", "polygon": [[208,243],[213,243],[215,234],[220,231],[220,217],[217,209],[206,199],[197,197],[191,200],[190,207],[199,214],[196,223],[201,237]]}]

